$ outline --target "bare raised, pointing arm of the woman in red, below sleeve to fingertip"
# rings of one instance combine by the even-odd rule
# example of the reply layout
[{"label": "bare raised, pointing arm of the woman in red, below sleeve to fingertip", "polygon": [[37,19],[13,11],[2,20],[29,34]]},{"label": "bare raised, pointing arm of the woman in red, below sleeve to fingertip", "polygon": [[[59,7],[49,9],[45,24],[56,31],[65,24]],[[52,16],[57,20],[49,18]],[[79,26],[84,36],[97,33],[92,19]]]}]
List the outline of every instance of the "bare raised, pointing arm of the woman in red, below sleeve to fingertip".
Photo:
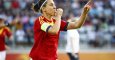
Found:
[{"label": "bare raised, pointing arm of the woman in red, below sleeve to fingertip", "polygon": [[92,3],[92,0],[89,0],[89,2],[83,8],[80,19],[76,20],[75,22],[69,22],[67,29],[77,29],[83,25],[83,23],[86,20],[87,14],[91,8],[91,3]]}]

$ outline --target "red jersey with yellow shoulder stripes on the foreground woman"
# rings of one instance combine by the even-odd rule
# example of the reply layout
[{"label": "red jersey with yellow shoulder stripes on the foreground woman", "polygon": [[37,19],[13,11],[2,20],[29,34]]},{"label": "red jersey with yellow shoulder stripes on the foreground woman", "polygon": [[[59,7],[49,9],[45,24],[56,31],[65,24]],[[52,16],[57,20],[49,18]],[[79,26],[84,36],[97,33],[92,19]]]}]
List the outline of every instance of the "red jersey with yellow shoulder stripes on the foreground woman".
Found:
[{"label": "red jersey with yellow shoulder stripes on the foreground woman", "polygon": [[[56,60],[59,33],[52,35],[43,31],[41,26],[43,23],[54,24],[55,20],[47,20],[40,16],[34,23],[34,46],[30,52],[30,57],[33,60]],[[61,21],[60,31],[67,30],[67,22]]]}]

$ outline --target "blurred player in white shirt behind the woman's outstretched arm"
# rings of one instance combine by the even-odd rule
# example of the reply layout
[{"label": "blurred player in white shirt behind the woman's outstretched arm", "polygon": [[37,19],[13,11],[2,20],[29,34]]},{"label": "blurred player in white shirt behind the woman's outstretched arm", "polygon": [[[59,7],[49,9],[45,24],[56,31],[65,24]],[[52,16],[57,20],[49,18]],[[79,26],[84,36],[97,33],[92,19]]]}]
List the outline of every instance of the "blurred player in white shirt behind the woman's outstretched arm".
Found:
[{"label": "blurred player in white shirt behind the woman's outstretched arm", "polygon": [[[70,18],[73,18],[70,16]],[[76,18],[69,19],[68,21],[75,21]],[[77,29],[67,30],[67,45],[66,52],[70,60],[79,60],[79,33]]]}]

